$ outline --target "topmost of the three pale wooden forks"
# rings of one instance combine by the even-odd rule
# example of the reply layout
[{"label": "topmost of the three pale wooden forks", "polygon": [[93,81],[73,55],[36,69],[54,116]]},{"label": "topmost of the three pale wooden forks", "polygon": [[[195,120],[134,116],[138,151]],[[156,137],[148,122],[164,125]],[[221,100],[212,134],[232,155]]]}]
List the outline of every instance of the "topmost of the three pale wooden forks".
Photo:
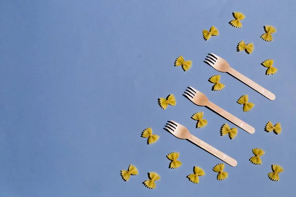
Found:
[{"label": "topmost of the three pale wooden forks", "polygon": [[253,88],[254,90],[256,90],[257,92],[259,92],[261,95],[263,95],[267,99],[269,99],[269,100],[275,99],[275,95],[273,93],[269,92],[268,90],[266,90],[262,86],[259,86],[257,83],[255,83],[254,81],[252,81],[248,77],[242,75],[241,73],[239,73],[238,71],[236,71],[235,69],[230,67],[229,64],[226,62],[226,60],[219,57],[218,55],[211,53],[211,54],[209,54],[209,56],[207,56],[206,61],[210,66],[212,66],[216,70],[218,70],[220,72],[227,72],[228,74],[230,74],[233,77],[235,77],[236,79],[240,80],[241,82],[243,82],[247,86],[249,86],[249,87]]}]

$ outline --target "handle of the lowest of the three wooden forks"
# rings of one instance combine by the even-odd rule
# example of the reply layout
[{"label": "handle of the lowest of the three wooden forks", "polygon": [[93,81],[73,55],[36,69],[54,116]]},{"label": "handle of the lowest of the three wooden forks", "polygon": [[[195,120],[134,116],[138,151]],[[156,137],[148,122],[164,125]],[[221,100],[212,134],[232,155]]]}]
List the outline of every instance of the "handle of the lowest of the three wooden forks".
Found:
[{"label": "handle of the lowest of the three wooden forks", "polygon": [[188,140],[191,141],[192,143],[196,144],[200,148],[204,149],[205,151],[211,153],[215,157],[218,157],[223,162],[225,162],[225,163],[227,163],[227,164],[229,164],[231,166],[236,166],[237,165],[237,161],[235,159],[233,159],[233,158],[229,157],[228,155],[222,153],[220,150],[218,150],[218,149],[214,148],[213,146],[207,144],[206,142],[202,141],[201,139],[195,137],[194,135],[190,134],[190,137],[189,137]]}]

